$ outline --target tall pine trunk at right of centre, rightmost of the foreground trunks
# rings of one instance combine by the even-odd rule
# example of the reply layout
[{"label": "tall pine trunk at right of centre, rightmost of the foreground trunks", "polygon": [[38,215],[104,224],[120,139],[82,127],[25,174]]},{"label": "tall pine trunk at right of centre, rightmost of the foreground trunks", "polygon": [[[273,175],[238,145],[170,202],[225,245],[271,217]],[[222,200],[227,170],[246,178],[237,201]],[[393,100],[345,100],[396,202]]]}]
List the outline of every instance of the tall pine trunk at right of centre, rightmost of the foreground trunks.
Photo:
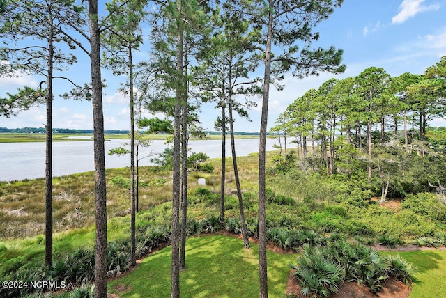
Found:
[{"label": "tall pine trunk at right of centre, rightmost of the foreground trunks", "polygon": [[270,69],[273,1],[269,0],[268,29],[265,49],[265,74],[263,79],[263,101],[259,139],[259,297],[268,297],[268,272],[266,266],[266,127],[268,123],[268,100],[270,97]]}]

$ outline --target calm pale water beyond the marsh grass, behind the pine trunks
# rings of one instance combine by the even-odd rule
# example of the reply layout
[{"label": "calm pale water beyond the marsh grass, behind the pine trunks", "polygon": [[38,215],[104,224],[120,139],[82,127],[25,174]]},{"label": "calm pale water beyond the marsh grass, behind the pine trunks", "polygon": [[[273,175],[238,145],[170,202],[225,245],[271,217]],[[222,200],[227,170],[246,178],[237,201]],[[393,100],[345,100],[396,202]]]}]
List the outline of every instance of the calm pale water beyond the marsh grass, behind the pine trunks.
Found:
[{"label": "calm pale water beyond the marsh grass, behind the pine trunks", "polygon": [[[105,142],[105,152],[123,146],[127,140]],[[205,152],[210,158],[222,156],[220,140],[190,141],[193,152]],[[277,143],[267,139],[266,148],[272,150]],[[231,156],[231,142],[226,140],[226,157]],[[139,148],[139,158],[162,152],[167,146],[164,141],[153,141],[149,148]],[[238,156],[259,151],[259,139],[236,140]],[[107,168],[122,168],[130,164],[130,155],[123,157],[105,155]],[[151,165],[150,157],[139,162],[140,166]],[[94,171],[93,141],[53,143],[53,176],[70,175]],[[23,180],[45,177],[45,142],[43,143],[0,143],[0,181]]]}]

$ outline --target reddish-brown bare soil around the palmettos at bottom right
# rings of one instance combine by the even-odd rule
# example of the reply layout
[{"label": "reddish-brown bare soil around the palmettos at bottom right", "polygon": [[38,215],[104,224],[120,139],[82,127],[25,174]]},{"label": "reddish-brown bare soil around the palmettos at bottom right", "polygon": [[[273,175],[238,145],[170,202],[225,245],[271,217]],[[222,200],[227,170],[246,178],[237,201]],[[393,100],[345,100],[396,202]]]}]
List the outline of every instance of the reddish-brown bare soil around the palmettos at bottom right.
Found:
[{"label": "reddish-brown bare soil around the palmettos at bottom right", "polygon": [[[307,298],[300,294],[302,287],[299,285],[298,281],[294,279],[295,270],[292,269],[288,281],[286,283],[286,294],[295,295],[298,298]],[[410,295],[411,289],[409,289],[401,281],[396,279],[387,279],[386,283],[383,285],[381,292],[379,292],[378,297],[382,298],[407,298]],[[334,298],[376,298],[376,295],[370,292],[369,288],[364,285],[358,285],[354,281],[344,282],[339,288],[339,292],[331,297]]]}]

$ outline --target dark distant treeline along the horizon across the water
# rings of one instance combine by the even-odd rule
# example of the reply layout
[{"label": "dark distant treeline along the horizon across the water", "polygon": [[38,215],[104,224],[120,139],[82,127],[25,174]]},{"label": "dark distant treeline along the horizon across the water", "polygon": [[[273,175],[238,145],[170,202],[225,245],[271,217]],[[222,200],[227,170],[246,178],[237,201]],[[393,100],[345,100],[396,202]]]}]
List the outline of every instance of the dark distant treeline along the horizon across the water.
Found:
[{"label": "dark distant treeline along the horizon across the water", "polygon": [[[0,127],[0,132],[9,133],[32,133],[45,134],[45,127],[22,127],[22,128],[7,128]],[[128,130],[105,130],[105,134],[128,134]],[[54,134],[93,134],[93,130],[73,130],[71,128],[53,128]],[[205,132],[206,134],[222,134],[222,132]],[[229,134],[229,133],[228,133]],[[234,132],[239,136],[259,136],[259,132]]]}]

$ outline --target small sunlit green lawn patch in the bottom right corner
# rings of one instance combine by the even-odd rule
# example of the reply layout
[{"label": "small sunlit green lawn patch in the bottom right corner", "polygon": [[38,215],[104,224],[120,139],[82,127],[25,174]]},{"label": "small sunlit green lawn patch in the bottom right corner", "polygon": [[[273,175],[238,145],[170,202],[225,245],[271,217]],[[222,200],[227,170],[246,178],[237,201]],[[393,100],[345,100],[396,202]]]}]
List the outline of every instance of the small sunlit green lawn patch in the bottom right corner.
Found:
[{"label": "small sunlit green lawn patch in the bottom right corner", "polygon": [[382,251],[399,254],[418,269],[410,298],[446,297],[446,251]]}]

